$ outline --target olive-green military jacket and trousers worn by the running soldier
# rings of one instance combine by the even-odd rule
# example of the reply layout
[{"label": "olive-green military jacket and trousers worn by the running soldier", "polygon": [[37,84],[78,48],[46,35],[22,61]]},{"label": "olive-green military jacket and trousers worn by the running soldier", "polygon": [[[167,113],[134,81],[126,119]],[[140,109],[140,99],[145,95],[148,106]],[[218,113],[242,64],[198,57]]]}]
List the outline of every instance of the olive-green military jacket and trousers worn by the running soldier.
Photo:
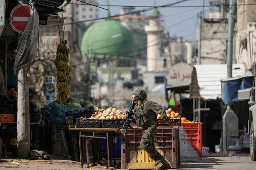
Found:
[{"label": "olive-green military jacket and trousers worn by the running soldier", "polygon": [[157,133],[156,119],[158,113],[163,119],[169,119],[164,107],[156,102],[145,99],[140,105],[136,104],[134,107],[134,120],[138,126],[142,127],[143,131],[140,147],[146,150],[148,156],[153,160],[155,160],[154,154],[157,152],[154,145],[154,137]]}]

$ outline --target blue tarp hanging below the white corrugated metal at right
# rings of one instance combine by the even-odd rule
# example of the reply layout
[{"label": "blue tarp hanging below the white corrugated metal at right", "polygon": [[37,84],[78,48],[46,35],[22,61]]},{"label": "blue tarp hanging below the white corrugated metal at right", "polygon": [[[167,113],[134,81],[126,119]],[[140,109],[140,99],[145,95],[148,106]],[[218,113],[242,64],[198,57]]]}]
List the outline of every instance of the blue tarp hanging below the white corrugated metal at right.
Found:
[{"label": "blue tarp hanging below the white corrugated metal at right", "polygon": [[224,103],[230,104],[239,102],[238,90],[252,88],[254,76],[245,76],[240,78],[228,78],[221,81],[221,99]]}]

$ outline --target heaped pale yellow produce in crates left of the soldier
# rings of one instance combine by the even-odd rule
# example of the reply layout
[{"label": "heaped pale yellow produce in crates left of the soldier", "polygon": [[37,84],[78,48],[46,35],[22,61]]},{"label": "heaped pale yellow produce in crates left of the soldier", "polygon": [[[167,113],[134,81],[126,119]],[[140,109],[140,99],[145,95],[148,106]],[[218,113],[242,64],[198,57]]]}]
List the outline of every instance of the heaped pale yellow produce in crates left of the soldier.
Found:
[{"label": "heaped pale yellow produce in crates left of the soldier", "polygon": [[[82,117],[81,117],[82,118]],[[84,117],[87,118],[87,117]],[[101,119],[101,120],[111,120],[111,119],[126,119],[126,115],[123,111],[120,111],[114,107],[109,107],[107,109],[100,109],[96,111],[89,119]]]}]

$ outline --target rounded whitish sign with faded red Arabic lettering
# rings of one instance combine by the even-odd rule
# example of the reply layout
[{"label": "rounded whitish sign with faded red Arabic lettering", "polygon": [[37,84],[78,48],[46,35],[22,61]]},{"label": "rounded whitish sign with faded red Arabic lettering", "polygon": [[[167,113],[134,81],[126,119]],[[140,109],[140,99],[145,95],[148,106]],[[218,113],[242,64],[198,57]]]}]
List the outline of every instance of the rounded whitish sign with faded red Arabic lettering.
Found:
[{"label": "rounded whitish sign with faded red Arabic lettering", "polygon": [[189,85],[191,83],[192,70],[192,66],[186,63],[175,64],[168,74],[168,85]]}]

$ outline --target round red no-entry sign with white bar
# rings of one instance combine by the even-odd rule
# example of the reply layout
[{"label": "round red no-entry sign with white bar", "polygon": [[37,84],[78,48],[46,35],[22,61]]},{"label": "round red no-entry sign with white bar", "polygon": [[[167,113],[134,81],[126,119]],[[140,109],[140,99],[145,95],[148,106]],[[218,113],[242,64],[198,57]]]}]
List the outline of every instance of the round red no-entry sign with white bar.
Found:
[{"label": "round red no-entry sign with white bar", "polygon": [[30,5],[22,4],[13,8],[10,14],[10,24],[18,33],[23,33],[30,16]]}]

